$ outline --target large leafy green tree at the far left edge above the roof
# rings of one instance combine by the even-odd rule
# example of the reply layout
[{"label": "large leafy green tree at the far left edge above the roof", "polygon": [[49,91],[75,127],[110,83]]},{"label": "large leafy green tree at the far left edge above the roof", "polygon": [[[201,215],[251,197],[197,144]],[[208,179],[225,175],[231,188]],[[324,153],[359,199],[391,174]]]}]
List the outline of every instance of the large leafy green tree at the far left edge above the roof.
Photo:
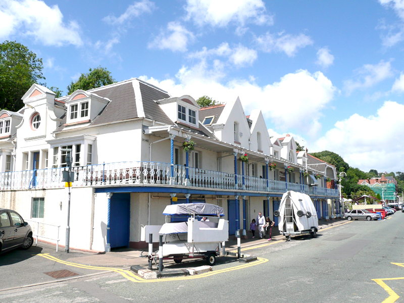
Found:
[{"label": "large leafy green tree at the far left edge above the roof", "polygon": [[0,44],[0,109],[13,112],[24,104],[22,96],[32,84],[44,80],[42,59],[16,41]]}]

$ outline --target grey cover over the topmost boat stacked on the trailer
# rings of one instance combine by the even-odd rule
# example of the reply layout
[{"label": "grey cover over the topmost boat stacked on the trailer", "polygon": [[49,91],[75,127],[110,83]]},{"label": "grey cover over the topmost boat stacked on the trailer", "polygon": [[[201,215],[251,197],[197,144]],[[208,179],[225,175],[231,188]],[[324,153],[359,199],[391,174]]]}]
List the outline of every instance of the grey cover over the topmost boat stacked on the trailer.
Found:
[{"label": "grey cover over the topmost boat stacked on the trailer", "polygon": [[220,216],[224,217],[223,208],[208,203],[183,203],[166,206],[163,215],[199,215],[199,216]]}]

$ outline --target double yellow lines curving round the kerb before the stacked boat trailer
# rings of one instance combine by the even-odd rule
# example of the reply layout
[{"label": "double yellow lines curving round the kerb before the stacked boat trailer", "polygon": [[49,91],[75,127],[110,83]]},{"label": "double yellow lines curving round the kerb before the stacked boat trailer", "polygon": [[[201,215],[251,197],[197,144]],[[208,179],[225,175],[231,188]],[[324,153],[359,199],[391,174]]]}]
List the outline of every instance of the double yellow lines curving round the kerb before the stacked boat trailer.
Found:
[{"label": "double yellow lines curving round the kerb before the stacked boat trailer", "polygon": [[221,273],[231,272],[231,271],[234,271],[234,270],[239,270],[239,269],[243,269],[243,268],[247,268],[247,267],[251,267],[251,266],[256,266],[256,265],[260,265],[260,264],[268,262],[268,259],[257,258],[258,261],[256,261],[256,262],[246,263],[246,264],[243,264],[243,265],[234,266],[234,267],[231,267],[231,268],[220,269],[220,270],[217,270],[217,271],[211,271],[211,272],[207,272],[207,273],[199,274],[199,275],[164,278],[164,279],[156,279],[156,280],[146,280],[146,279],[140,278],[139,276],[137,276],[135,273],[133,273],[130,270],[124,270],[124,269],[112,268],[112,267],[98,267],[98,266],[83,265],[83,264],[79,264],[79,263],[63,261],[63,260],[60,260],[60,259],[58,259],[56,257],[53,257],[53,256],[49,255],[49,254],[39,254],[38,256],[41,256],[43,258],[46,258],[46,259],[49,259],[49,260],[52,260],[52,261],[55,261],[55,262],[58,262],[58,263],[61,263],[61,264],[64,264],[64,265],[68,265],[68,266],[84,268],[84,269],[104,270],[104,271],[116,272],[116,273],[121,274],[123,277],[125,277],[129,281],[137,282],[137,283],[154,283],[154,282],[198,279],[198,278],[209,277],[209,276],[213,276],[213,275],[217,275],[217,274],[221,274]]}]

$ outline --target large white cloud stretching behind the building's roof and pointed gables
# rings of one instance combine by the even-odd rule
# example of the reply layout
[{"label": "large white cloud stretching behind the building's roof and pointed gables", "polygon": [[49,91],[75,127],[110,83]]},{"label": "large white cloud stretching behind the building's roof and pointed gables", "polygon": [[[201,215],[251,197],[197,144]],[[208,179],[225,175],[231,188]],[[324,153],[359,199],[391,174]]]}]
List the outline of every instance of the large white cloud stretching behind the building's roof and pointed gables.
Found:
[{"label": "large white cloud stretching behind the building's roof and pointed gables", "polygon": [[220,81],[224,76],[223,66],[218,64],[209,70],[203,61],[192,68],[183,67],[176,79],[159,81],[146,76],[142,79],[169,91],[171,95],[187,93],[195,98],[209,95],[224,103],[239,96],[246,112],[261,109],[265,119],[280,131],[298,128],[310,136],[318,133],[321,128],[321,111],[336,93],[336,88],[321,72],[311,74],[299,70],[266,86],[245,79],[222,84]]}]

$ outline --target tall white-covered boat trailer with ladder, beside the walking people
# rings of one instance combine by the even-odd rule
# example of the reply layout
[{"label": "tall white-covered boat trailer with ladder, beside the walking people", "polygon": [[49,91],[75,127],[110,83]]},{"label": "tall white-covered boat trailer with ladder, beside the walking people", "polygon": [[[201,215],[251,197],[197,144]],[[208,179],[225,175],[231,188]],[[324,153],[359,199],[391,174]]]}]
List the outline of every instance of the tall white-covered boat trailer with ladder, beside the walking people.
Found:
[{"label": "tall white-covered boat trailer with ladder, beside the walking people", "polygon": [[296,191],[283,194],[279,211],[274,212],[279,217],[278,228],[288,241],[291,235],[308,234],[317,236],[319,222],[317,211],[309,195]]}]

